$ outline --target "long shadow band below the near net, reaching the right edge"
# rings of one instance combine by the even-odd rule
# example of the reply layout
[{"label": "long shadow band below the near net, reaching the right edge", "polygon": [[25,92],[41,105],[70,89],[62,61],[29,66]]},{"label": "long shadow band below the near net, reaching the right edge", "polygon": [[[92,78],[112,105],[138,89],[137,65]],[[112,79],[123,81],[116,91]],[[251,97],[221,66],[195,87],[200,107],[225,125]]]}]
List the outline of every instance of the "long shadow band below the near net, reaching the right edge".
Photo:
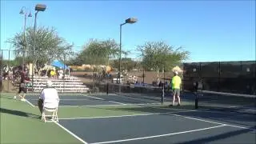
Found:
[{"label": "long shadow band below the near net, reaching the right edge", "polygon": [[[99,108],[99,107],[98,107]],[[193,105],[185,106],[117,106],[104,107],[99,109],[120,110],[141,113],[175,113],[186,117],[210,119],[218,122],[231,123],[239,126],[256,126],[255,114],[238,114],[236,112],[226,112],[222,110],[195,110]],[[195,111],[189,111],[195,110]],[[171,115],[171,114],[170,114]]]}]

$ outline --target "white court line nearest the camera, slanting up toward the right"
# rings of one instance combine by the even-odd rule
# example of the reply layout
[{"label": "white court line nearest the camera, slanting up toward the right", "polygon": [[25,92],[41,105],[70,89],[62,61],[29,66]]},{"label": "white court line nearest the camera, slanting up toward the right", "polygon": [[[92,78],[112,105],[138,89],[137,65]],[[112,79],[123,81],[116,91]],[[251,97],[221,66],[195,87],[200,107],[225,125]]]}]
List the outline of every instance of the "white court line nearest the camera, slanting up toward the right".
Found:
[{"label": "white court line nearest the camera, slanting up toward the right", "polygon": [[218,127],[222,127],[222,126],[226,126],[226,125],[211,126],[211,127],[206,127],[206,128],[202,128],[202,129],[187,130],[187,131],[181,131],[181,132],[177,132],[177,133],[161,134],[161,135],[154,135],[154,136],[142,137],[142,138],[130,138],[130,139],[117,140],[117,141],[109,141],[109,142],[94,142],[94,143],[91,143],[91,144],[127,142],[127,141],[135,141],[135,140],[148,139],[148,138],[159,138],[159,137],[166,137],[166,136],[175,135],[175,134],[186,134],[186,133],[191,133],[191,132],[194,132],[194,131],[210,130],[210,129],[214,129],[214,128],[218,128]]}]

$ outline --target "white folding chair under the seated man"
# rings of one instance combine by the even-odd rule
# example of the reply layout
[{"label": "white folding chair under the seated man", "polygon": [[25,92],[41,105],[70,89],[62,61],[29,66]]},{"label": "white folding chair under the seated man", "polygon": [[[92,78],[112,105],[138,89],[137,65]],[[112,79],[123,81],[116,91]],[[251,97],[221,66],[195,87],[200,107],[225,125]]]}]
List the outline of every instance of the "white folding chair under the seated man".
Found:
[{"label": "white folding chair under the seated man", "polygon": [[[53,102],[43,102],[42,107],[42,121],[43,122],[58,122],[58,103],[59,100]],[[51,113],[51,114],[48,114]],[[47,120],[51,117],[50,120]]]}]

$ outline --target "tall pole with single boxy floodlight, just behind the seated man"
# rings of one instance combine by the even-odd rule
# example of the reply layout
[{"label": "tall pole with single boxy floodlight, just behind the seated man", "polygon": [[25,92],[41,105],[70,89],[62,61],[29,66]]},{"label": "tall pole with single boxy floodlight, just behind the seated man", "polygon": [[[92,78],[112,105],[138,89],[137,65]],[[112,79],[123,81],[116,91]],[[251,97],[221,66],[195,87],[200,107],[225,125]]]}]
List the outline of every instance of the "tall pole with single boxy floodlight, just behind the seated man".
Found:
[{"label": "tall pole with single boxy floodlight, just behind the seated man", "polygon": [[[46,10],[46,5],[42,5],[42,4],[37,4],[34,8],[34,10],[36,10],[35,14],[34,14],[34,34],[33,34],[33,61],[34,61],[34,45],[35,45],[35,31],[36,31],[36,27],[37,27],[37,16],[38,16],[38,12],[39,11],[44,11]],[[32,90],[34,91],[34,62],[33,62],[33,66],[32,66]]]}]

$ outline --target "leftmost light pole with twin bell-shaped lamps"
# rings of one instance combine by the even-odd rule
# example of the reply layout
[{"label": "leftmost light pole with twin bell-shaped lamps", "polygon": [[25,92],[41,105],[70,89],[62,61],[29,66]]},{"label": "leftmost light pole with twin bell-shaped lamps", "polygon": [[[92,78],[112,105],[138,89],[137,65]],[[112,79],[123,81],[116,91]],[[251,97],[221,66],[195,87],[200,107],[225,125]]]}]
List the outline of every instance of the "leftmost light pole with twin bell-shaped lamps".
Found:
[{"label": "leftmost light pole with twin bell-shaped lamps", "polygon": [[22,10],[19,14],[24,14],[24,48],[23,48],[23,55],[22,55],[22,70],[24,70],[24,58],[26,56],[26,17],[32,17],[32,14],[28,14],[28,9],[25,6],[22,6]]}]

